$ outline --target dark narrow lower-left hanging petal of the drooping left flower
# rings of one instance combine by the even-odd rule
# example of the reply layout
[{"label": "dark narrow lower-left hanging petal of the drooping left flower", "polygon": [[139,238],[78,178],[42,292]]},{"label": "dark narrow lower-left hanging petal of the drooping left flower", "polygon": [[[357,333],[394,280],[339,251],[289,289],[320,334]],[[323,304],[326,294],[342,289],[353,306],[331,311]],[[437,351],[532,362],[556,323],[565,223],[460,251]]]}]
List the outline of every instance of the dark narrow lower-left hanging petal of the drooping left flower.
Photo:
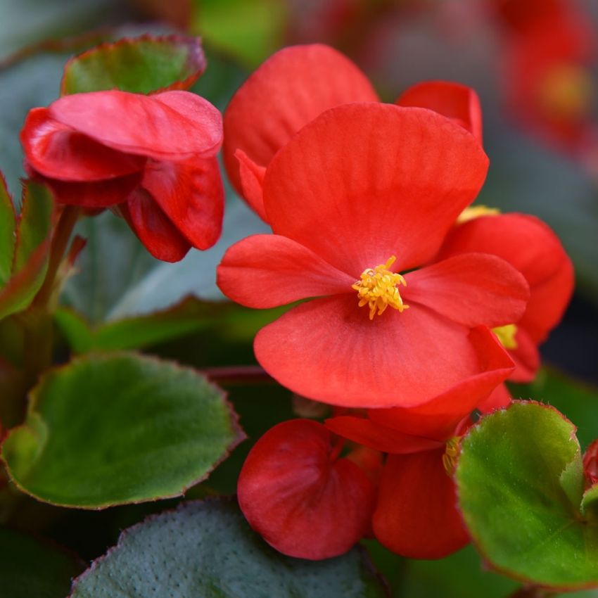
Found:
[{"label": "dark narrow lower-left hanging petal of the drooping left flower", "polygon": [[118,210],[146,249],[165,262],[178,262],[191,249],[189,242],[168,220],[151,195],[139,187]]}]

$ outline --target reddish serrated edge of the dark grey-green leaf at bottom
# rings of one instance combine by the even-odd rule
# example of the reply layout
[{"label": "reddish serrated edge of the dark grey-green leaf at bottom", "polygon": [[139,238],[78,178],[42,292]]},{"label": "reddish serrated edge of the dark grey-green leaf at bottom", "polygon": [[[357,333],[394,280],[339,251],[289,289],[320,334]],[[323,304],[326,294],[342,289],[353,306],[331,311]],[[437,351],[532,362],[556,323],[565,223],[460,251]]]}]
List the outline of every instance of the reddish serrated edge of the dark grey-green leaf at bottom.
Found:
[{"label": "reddish serrated edge of the dark grey-green leaf at bottom", "polygon": [[[75,594],[73,594],[73,592],[76,590],[76,586],[79,583],[84,582],[85,578],[87,578],[87,575],[90,575],[91,573],[93,573],[96,570],[96,568],[98,568],[98,566],[100,566],[103,563],[103,561],[108,559],[113,554],[113,552],[120,549],[120,547],[122,547],[122,542],[126,539],[127,535],[134,532],[137,528],[141,528],[141,526],[146,525],[146,523],[153,521],[154,519],[158,519],[159,517],[161,517],[165,514],[174,514],[174,513],[177,513],[179,511],[186,509],[187,507],[199,505],[199,504],[205,504],[208,506],[210,504],[222,504],[224,507],[233,507],[234,509],[236,509],[236,511],[238,511],[238,514],[243,519],[246,529],[251,534],[253,534],[259,542],[262,542],[262,545],[265,550],[272,550],[272,551],[276,552],[277,554],[280,554],[282,559],[291,559],[292,561],[305,562],[304,559],[295,559],[293,556],[286,556],[286,554],[282,554],[281,552],[278,552],[275,548],[270,546],[257,532],[255,532],[250,527],[249,523],[243,516],[241,509],[238,507],[238,503],[236,501],[236,495],[209,496],[209,497],[205,497],[201,500],[183,500],[182,502],[180,502],[177,505],[177,507],[174,507],[174,509],[166,509],[165,511],[160,511],[160,513],[154,513],[154,514],[148,515],[144,519],[139,521],[139,523],[135,523],[131,527],[129,527],[125,530],[122,530],[118,537],[117,543],[114,546],[111,546],[110,548],[108,548],[106,553],[102,554],[101,556],[98,556],[97,559],[94,559],[93,561],[91,561],[91,564],[89,565],[89,567],[85,571],[83,571],[83,573],[81,573],[80,575],[78,575],[76,578],[74,578],[72,580],[70,594],[68,595],[67,598],[75,598]],[[362,556],[362,564],[363,564],[364,568],[367,568],[367,571],[369,571],[369,573],[371,573],[371,575],[373,575],[380,582],[380,585],[381,585],[384,593],[386,594],[386,598],[393,598],[393,595],[390,592],[390,586],[388,585],[388,582],[374,566],[374,561],[371,558],[367,549],[360,544],[355,545],[354,548],[357,550],[357,552],[359,552],[360,556]],[[342,556],[340,556],[340,557],[337,556],[337,557],[333,557],[333,558],[342,558]],[[326,560],[328,560],[328,559],[326,559]]]}]

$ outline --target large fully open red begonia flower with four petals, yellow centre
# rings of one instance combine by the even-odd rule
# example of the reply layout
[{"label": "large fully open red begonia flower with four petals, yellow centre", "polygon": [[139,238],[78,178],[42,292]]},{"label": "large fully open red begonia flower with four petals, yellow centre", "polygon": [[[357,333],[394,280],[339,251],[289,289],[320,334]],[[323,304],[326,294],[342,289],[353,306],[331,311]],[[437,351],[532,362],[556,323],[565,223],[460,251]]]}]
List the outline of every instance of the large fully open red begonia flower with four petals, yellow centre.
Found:
[{"label": "large fully open red begonia flower with four petals, yellow centre", "polygon": [[437,253],[487,166],[476,139],[431,110],[353,103],[306,125],[266,170],[274,234],[236,243],[218,268],[243,305],[316,298],[257,333],[262,367],[346,407],[421,405],[487,371],[471,329],[519,319],[523,276],[473,253],[395,274]]}]

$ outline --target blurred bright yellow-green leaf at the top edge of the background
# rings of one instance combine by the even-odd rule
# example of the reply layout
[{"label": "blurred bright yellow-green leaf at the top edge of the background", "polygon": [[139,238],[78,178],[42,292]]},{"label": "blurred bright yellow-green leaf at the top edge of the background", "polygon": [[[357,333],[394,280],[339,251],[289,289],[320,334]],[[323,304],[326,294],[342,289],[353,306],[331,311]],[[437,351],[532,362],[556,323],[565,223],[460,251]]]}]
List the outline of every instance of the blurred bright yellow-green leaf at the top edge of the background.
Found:
[{"label": "blurred bright yellow-green leaf at the top edge of the background", "polygon": [[279,0],[193,0],[191,30],[248,67],[283,44],[288,9]]}]

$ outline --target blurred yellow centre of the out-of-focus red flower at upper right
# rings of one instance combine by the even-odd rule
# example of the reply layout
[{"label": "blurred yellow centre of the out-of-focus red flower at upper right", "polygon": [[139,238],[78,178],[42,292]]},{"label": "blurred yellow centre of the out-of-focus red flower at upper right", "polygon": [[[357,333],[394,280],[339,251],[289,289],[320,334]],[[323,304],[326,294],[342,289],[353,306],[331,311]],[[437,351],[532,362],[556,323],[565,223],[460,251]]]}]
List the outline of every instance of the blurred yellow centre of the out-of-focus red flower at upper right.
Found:
[{"label": "blurred yellow centre of the out-of-focus red flower at upper right", "polygon": [[561,63],[540,78],[537,99],[548,117],[578,120],[590,112],[593,84],[583,66]]}]

